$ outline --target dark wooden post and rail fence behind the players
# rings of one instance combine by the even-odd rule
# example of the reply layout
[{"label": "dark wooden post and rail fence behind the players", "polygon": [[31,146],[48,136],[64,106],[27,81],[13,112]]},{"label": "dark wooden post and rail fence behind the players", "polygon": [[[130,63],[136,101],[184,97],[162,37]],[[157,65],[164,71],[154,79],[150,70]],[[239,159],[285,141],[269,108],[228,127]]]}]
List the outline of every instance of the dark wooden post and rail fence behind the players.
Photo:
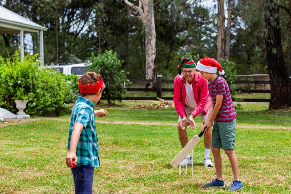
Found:
[{"label": "dark wooden post and rail fence behind the players", "polygon": [[[238,76],[239,78],[248,78],[248,77],[263,77],[263,80],[236,80],[232,84],[255,84],[261,85],[264,84],[264,89],[237,89],[241,93],[271,93],[269,76],[267,74],[258,74],[258,75],[242,75]],[[289,94],[289,106],[291,106],[291,77],[289,77],[290,84],[290,94]],[[162,92],[174,92],[174,88],[162,88],[162,83],[174,83],[174,80],[163,79],[162,75],[158,75],[157,79],[132,79],[132,83],[149,83],[154,82],[155,88],[126,88],[127,91],[135,92],[156,92],[156,97],[124,97],[124,100],[156,100],[157,97],[164,100],[173,100],[173,97],[162,97]],[[256,88],[256,87],[255,87]],[[102,97],[101,99],[105,99]],[[270,102],[270,99],[242,99],[243,102]],[[235,99],[234,99],[235,101]]]}]

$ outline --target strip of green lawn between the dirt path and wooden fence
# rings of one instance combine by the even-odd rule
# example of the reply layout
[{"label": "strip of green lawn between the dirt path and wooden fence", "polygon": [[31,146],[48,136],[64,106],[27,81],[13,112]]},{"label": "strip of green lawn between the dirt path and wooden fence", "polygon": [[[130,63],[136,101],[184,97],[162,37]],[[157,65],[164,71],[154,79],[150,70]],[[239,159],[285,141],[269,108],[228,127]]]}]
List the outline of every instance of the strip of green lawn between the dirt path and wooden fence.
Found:
[{"label": "strip of green lawn between the dirt path and wooden fence", "polygon": [[[133,109],[134,105],[143,104],[150,105],[151,101],[123,101],[116,103],[123,107],[107,107],[104,108],[108,111],[109,115],[103,118],[96,118],[96,120],[107,121],[138,121],[138,122],[162,122],[162,123],[177,123],[178,114],[175,108],[165,109]],[[239,104],[239,105],[238,105]],[[106,101],[102,100],[102,108],[106,105]],[[269,103],[237,103],[235,108],[237,112],[236,122],[237,125],[261,125],[261,126],[291,126],[291,111],[269,111]],[[63,116],[62,118],[70,118],[70,115]],[[202,124],[200,116],[194,119],[196,124]]]}]

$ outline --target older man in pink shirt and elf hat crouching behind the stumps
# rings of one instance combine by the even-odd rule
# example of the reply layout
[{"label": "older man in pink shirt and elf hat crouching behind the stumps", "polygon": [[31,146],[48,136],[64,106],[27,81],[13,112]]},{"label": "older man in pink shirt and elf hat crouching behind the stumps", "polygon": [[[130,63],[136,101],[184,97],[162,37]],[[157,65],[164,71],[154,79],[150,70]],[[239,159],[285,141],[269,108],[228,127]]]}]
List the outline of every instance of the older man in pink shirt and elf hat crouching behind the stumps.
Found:
[{"label": "older man in pink shirt and elf hat crouching behind the stumps", "polygon": [[[210,109],[210,97],[208,92],[208,82],[195,71],[195,63],[191,58],[184,58],[178,67],[178,73],[174,80],[173,100],[175,108],[179,114],[178,133],[182,148],[188,143],[187,126],[195,127],[194,118],[200,115],[203,125],[207,119]],[[181,73],[183,72],[183,74]],[[210,160],[212,132],[208,130],[204,134],[205,157],[203,164],[213,167]],[[186,160],[187,158],[187,160]],[[191,164],[190,155],[182,161],[182,166]]]}]

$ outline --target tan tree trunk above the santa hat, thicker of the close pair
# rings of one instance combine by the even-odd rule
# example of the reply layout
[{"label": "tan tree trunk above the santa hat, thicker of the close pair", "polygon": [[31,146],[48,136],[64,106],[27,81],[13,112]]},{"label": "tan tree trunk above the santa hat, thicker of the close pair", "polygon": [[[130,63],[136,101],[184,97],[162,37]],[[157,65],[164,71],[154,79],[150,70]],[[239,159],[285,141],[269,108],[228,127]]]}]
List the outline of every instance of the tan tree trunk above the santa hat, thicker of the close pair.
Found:
[{"label": "tan tree trunk above the santa hat, thicker of the close pair", "polygon": [[224,38],[224,0],[217,0],[218,12],[217,12],[217,53],[216,60],[219,62],[224,57],[225,38]]}]

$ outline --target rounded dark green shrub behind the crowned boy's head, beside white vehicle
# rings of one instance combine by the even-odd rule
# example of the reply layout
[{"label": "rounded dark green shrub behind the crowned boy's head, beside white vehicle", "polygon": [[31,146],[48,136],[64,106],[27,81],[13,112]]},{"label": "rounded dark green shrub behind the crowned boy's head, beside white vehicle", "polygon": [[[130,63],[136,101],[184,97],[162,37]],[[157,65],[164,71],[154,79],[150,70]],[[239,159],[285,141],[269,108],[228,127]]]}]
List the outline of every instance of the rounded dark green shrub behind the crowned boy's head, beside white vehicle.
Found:
[{"label": "rounded dark green shrub behind the crowned boy's head, beside white vehicle", "polygon": [[105,51],[104,54],[98,56],[92,56],[88,58],[87,71],[96,72],[102,76],[106,88],[104,95],[107,99],[108,104],[114,103],[114,99],[118,99],[121,102],[122,98],[126,95],[126,89],[124,83],[130,83],[129,79],[126,78],[128,72],[122,70],[122,60],[117,58],[116,52],[112,50]]}]

